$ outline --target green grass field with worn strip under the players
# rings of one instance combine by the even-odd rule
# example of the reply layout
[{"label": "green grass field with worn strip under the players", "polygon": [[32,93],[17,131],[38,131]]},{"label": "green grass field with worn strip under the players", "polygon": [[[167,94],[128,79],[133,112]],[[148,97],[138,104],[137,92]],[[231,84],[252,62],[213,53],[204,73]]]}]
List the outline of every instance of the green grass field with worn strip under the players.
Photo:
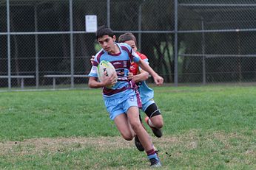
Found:
[{"label": "green grass field with worn strip under the players", "polygon": [[[154,90],[161,169],[256,169],[255,87]],[[0,169],[149,169],[110,121],[100,89],[2,92],[0,120]]]}]

